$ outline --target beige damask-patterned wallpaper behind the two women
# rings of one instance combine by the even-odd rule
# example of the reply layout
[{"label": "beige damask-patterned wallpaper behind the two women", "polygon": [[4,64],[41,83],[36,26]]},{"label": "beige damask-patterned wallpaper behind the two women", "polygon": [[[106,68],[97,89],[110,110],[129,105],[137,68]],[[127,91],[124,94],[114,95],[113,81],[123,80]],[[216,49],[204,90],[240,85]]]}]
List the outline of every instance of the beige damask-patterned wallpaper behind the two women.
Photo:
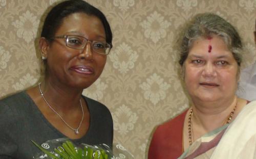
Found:
[{"label": "beige damask-patterned wallpaper behind the two women", "polygon": [[[0,0],[0,96],[40,78],[42,14],[56,0]],[[256,0],[89,0],[109,19],[112,49],[100,78],[83,94],[112,112],[114,142],[146,158],[154,127],[188,107],[178,75],[176,33],[191,16],[214,12],[239,30],[245,67],[256,60]]]}]

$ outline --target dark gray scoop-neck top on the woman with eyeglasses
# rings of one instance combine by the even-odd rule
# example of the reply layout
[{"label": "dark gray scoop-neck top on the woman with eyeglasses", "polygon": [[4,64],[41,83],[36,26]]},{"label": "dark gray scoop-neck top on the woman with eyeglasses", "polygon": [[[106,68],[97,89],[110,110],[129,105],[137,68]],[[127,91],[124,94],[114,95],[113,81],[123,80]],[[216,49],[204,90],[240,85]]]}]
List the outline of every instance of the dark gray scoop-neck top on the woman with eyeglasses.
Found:
[{"label": "dark gray scoop-neck top on the woman with eyeglasses", "polygon": [[[84,97],[84,96],[83,96]],[[102,103],[84,97],[90,112],[87,134],[73,142],[86,144],[105,143],[112,147],[113,120]],[[32,158],[40,150],[38,144],[47,140],[67,138],[41,114],[34,101],[25,92],[0,100],[0,158]]]}]

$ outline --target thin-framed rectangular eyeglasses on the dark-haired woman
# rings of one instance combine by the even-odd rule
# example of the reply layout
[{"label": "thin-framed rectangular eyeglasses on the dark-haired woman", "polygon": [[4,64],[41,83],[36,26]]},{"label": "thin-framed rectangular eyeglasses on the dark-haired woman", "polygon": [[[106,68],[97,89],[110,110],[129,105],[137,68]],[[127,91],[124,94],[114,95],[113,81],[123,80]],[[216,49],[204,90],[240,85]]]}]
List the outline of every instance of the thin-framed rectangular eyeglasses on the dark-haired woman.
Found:
[{"label": "thin-framed rectangular eyeglasses on the dark-haired woman", "polygon": [[[66,39],[66,46],[70,48],[75,48],[75,49],[83,49],[86,46],[87,42],[90,41],[87,38],[84,38],[78,35],[61,35],[61,36],[53,37],[52,39],[55,39],[55,38]],[[97,41],[97,40],[93,40],[91,42],[92,42],[92,48],[94,52],[97,52],[98,54],[102,54],[102,55],[108,55],[110,53],[110,49],[112,48],[111,44],[106,43],[104,41]]]}]

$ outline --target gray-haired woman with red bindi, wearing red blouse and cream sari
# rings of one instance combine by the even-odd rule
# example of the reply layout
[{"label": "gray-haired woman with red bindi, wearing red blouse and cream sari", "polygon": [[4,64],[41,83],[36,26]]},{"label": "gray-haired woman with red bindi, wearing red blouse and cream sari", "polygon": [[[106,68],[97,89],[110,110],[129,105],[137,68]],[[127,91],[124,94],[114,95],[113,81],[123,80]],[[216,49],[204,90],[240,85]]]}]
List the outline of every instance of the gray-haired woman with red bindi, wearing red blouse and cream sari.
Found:
[{"label": "gray-haired woman with red bindi, wearing red blouse and cream sari", "polygon": [[[157,127],[148,158],[178,158],[183,152],[180,158],[246,154],[243,146],[256,134],[251,128],[256,120],[249,119],[255,118],[256,103],[236,96],[242,54],[236,29],[218,15],[199,14],[187,24],[180,48],[179,63],[191,107]],[[239,126],[244,127],[237,129]],[[239,140],[243,137],[247,139]]]}]

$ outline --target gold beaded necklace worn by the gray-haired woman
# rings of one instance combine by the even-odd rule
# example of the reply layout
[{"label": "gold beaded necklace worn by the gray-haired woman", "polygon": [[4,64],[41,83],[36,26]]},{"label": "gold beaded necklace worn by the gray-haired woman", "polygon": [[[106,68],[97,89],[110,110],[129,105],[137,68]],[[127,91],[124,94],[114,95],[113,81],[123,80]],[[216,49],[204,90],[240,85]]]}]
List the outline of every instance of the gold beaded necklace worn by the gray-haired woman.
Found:
[{"label": "gold beaded necklace worn by the gray-haired woman", "polygon": [[[234,109],[230,112],[230,114],[226,120],[226,124],[229,124],[230,121],[232,120],[234,111],[236,111],[236,109],[237,109],[237,105],[238,105],[238,100],[237,100],[236,105],[234,106]],[[193,126],[192,120],[191,120],[192,115],[193,115],[193,109],[191,109],[188,114],[188,144],[189,144],[189,146],[192,145],[192,130],[191,130],[192,126]]]}]

